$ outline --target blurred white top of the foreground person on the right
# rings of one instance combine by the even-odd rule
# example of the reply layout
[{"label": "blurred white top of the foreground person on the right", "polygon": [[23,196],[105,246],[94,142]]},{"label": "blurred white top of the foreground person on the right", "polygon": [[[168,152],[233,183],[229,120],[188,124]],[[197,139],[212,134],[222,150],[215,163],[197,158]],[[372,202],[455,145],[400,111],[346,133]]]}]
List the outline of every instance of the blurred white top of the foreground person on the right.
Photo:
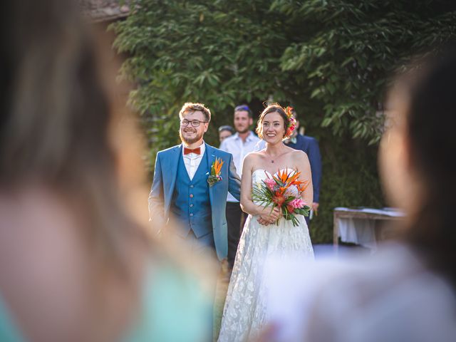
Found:
[{"label": "blurred white top of the foreground person on the right", "polygon": [[[277,282],[271,298],[278,304],[293,300],[299,312],[306,313],[301,316],[306,338],[296,341],[454,341],[412,338],[429,336],[427,332],[455,336],[454,318],[448,313],[456,306],[456,296],[408,247],[390,245],[375,255],[344,252],[339,258],[328,251],[328,257],[303,263],[300,268],[306,271],[299,276],[296,264],[276,261],[269,266]],[[299,292],[282,291],[291,289],[289,284]],[[346,335],[354,329],[356,338]]]}]

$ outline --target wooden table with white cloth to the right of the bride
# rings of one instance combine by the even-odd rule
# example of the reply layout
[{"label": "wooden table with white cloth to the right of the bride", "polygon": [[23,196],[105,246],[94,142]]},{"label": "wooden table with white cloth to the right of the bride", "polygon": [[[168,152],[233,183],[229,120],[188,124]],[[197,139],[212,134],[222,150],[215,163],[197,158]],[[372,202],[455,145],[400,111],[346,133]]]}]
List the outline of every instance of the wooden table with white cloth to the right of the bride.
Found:
[{"label": "wooden table with white cloth to the right of the bride", "polygon": [[339,221],[340,219],[362,219],[382,221],[398,221],[403,218],[403,214],[392,209],[375,209],[375,208],[346,208],[337,207],[333,212],[333,244],[338,247],[338,239],[340,235]]}]

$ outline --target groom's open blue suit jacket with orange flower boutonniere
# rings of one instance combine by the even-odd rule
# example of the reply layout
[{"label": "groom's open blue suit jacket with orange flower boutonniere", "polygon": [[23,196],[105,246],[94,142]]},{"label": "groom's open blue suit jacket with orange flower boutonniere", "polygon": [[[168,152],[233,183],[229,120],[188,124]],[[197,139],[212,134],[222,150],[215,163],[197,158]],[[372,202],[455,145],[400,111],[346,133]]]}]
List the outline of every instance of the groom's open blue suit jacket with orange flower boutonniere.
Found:
[{"label": "groom's open blue suit jacket with orange flower boutonniere", "polygon": [[[170,204],[172,193],[175,190],[177,165],[182,154],[182,144],[170,147],[157,153],[155,160],[155,172],[152,188],[149,194],[149,216],[159,230],[165,228],[170,219]],[[236,199],[240,199],[241,180],[234,167],[231,153],[224,152],[218,148],[206,144],[207,175],[215,158],[221,158],[224,162],[221,170],[222,180],[212,187],[209,187],[209,199],[212,211],[212,232],[217,257],[222,260],[227,257],[227,217],[225,208],[227,206],[228,192]]]}]

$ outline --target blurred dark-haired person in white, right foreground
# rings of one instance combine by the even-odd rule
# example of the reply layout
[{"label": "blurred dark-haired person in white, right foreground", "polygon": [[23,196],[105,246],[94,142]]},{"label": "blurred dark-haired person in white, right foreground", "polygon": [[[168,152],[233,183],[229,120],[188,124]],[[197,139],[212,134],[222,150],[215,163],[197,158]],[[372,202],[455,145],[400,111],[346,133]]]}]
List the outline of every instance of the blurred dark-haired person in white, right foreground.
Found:
[{"label": "blurred dark-haired person in white, right foreground", "polygon": [[411,70],[390,90],[379,154],[385,195],[406,214],[401,238],[371,258],[306,268],[295,333],[293,317],[272,312],[263,341],[456,341],[455,51]]}]

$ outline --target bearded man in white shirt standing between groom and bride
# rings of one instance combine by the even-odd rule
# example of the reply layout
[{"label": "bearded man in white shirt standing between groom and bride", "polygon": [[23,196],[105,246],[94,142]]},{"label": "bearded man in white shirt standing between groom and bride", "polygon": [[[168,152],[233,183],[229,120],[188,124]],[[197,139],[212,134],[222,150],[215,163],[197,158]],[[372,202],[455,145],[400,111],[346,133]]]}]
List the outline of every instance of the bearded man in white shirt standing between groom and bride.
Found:
[{"label": "bearded man in white shirt standing between groom and bride", "polygon": [[[242,176],[242,162],[250,152],[258,150],[260,139],[254,135],[250,126],[254,123],[252,110],[247,105],[238,105],[234,108],[234,129],[236,133],[222,141],[220,150],[233,155],[234,166],[237,174]],[[246,215],[242,212],[239,201],[231,194],[227,197],[227,222],[228,222],[228,263],[233,268],[236,257],[237,245],[244,227]]]}]

